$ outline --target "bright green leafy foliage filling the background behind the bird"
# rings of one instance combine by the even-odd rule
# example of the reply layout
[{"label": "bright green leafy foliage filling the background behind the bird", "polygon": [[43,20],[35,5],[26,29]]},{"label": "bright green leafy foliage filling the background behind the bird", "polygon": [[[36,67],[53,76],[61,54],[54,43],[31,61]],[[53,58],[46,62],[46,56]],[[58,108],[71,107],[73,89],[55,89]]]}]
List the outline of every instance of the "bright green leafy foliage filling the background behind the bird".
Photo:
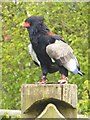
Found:
[{"label": "bright green leafy foliage filling the background behind the bird", "polygon": [[[85,76],[69,73],[69,83],[78,85],[78,112],[88,114],[88,3],[13,2],[2,3],[2,108],[20,109],[22,84],[41,76],[28,53],[28,32],[20,24],[28,15],[42,15],[51,31],[62,36],[73,48]],[[50,81],[59,74],[48,75]]]}]

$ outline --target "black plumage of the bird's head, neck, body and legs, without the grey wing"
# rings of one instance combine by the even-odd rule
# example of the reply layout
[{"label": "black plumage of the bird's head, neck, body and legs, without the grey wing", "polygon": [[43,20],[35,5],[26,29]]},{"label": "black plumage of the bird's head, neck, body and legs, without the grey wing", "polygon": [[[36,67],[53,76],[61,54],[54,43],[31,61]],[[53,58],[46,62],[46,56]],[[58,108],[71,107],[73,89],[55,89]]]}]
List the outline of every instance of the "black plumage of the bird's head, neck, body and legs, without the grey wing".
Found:
[{"label": "black plumage of the bird's head, neck, body and legs, without the grey wing", "polygon": [[62,79],[66,79],[68,77],[68,70],[60,64],[60,60],[51,58],[46,52],[46,47],[55,43],[56,40],[64,43],[66,42],[60,36],[50,32],[48,27],[45,25],[42,16],[31,16],[27,18],[24,26],[28,30],[32,49],[40,62],[42,79],[46,80],[46,75],[48,73],[53,73],[56,71],[61,73]]}]

